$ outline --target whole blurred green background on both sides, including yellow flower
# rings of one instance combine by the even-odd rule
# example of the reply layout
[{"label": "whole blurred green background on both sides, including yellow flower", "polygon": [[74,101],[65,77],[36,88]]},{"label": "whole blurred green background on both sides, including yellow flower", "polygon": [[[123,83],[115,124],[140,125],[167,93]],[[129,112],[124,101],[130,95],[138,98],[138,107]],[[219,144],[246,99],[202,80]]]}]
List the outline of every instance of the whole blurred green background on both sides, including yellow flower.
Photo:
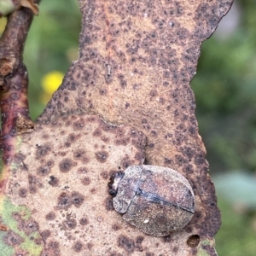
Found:
[{"label": "whole blurred green background on both sides, including yellow flower", "polygon": [[[207,148],[223,224],[220,256],[256,255],[256,1],[235,1],[217,32],[202,44],[196,117]],[[44,0],[26,42],[32,119],[77,59],[81,15],[77,0]],[[0,33],[4,20],[0,20]]]}]

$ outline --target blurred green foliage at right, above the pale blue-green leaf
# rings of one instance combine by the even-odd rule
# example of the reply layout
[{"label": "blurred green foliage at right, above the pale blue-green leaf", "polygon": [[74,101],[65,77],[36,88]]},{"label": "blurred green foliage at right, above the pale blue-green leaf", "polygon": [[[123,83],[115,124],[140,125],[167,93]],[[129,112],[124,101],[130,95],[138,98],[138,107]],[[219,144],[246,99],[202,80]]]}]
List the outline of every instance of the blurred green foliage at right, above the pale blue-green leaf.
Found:
[{"label": "blurred green foliage at right, above the pale blue-green leaf", "polygon": [[256,5],[242,7],[236,33],[202,44],[191,83],[212,172],[256,169]]}]

